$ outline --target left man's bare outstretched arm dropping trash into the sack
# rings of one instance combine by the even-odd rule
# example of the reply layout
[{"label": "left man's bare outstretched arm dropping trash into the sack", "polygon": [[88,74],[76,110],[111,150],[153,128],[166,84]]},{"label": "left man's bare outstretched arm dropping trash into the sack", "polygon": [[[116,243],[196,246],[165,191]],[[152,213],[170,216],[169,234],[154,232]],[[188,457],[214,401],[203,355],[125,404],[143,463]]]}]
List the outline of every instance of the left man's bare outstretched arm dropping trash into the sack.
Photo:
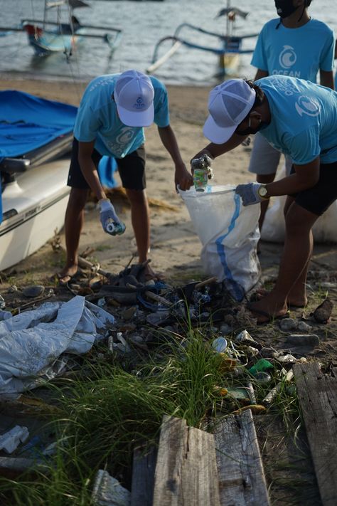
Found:
[{"label": "left man's bare outstretched arm dropping trash into the sack", "polygon": [[176,136],[170,125],[167,127],[158,127],[159,137],[165,149],[169,152],[171,159],[176,167],[174,174],[174,183],[179,185],[182,190],[188,190],[193,184],[193,177],[186,169],[176,141]]}]

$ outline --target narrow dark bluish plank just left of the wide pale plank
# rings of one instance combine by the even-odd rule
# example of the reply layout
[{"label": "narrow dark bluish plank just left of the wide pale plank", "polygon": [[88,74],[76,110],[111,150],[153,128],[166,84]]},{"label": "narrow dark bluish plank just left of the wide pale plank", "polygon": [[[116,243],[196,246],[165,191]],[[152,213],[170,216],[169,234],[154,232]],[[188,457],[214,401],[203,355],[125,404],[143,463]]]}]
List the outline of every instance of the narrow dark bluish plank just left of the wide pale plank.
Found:
[{"label": "narrow dark bluish plank just left of the wide pale plank", "polygon": [[132,465],[132,489],[130,506],[152,506],[154,499],[154,470],[157,450],[135,448]]}]

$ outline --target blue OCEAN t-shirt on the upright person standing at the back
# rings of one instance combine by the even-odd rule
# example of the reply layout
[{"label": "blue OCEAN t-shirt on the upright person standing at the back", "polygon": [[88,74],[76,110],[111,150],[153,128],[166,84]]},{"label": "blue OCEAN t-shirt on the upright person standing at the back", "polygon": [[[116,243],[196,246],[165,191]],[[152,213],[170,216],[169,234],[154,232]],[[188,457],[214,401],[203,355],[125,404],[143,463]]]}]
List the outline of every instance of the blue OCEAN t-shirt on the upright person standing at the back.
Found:
[{"label": "blue OCEAN t-shirt on the upright person standing at the back", "polygon": [[272,19],[263,26],[252,65],[269,75],[289,75],[312,83],[319,70],[333,70],[335,41],[328,25],[310,19],[299,28],[286,28],[279,21]]}]

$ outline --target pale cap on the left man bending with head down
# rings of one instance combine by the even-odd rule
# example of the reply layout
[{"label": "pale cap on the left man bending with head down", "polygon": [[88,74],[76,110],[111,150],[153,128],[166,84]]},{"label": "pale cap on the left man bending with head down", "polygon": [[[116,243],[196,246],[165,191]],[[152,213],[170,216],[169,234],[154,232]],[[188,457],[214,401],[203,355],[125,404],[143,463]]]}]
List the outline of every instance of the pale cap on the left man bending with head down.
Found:
[{"label": "pale cap on the left man bending with head down", "polygon": [[151,79],[137,70],[119,75],[114,100],[120,120],[128,127],[149,127],[154,122],[154,87]]}]

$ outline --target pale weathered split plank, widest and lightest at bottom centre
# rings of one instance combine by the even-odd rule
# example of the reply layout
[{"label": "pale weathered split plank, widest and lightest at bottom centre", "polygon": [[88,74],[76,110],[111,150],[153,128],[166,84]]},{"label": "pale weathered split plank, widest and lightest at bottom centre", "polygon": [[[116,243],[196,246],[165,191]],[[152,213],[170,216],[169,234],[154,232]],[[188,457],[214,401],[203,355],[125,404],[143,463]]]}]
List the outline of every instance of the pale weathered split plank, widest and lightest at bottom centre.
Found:
[{"label": "pale weathered split plank, widest and lightest at bottom centre", "polygon": [[154,506],[220,506],[212,434],[164,416],[154,478]]}]

